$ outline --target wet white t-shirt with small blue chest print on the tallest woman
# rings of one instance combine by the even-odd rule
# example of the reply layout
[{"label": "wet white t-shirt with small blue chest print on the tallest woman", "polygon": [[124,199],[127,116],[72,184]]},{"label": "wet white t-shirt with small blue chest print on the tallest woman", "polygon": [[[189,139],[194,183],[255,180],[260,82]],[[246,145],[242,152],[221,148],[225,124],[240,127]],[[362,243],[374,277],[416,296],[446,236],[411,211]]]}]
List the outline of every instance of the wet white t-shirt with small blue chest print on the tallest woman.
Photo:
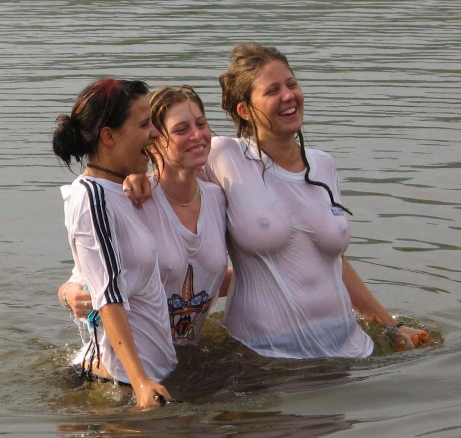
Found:
[{"label": "wet white t-shirt with small blue chest print on the tallest woman", "polygon": [[[340,201],[333,159],[306,149],[310,179]],[[269,357],[367,356],[371,338],[357,324],[342,281],[350,233],[323,187],[306,183],[239,139],[214,137],[205,166],[227,198],[227,249],[234,267],[224,325]]]}]

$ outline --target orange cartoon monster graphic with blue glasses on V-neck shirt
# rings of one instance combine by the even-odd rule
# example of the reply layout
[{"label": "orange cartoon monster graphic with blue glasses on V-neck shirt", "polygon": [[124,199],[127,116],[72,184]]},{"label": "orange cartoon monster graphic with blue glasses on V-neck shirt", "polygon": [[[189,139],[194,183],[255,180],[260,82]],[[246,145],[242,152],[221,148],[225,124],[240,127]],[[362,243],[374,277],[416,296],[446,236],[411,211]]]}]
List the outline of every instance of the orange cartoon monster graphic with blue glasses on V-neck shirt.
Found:
[{"label": "orange cartoon monster graphic with blue glasses on V-neck shirt", "polygon": [[168,299],[171,334],[173,339],[195,339],[194,327],[200,315],[206,312],[210,298],[205,291],[194,294],[192,266],[188,265],[187,274],[181,291],[182,297],[173,294]]}]

